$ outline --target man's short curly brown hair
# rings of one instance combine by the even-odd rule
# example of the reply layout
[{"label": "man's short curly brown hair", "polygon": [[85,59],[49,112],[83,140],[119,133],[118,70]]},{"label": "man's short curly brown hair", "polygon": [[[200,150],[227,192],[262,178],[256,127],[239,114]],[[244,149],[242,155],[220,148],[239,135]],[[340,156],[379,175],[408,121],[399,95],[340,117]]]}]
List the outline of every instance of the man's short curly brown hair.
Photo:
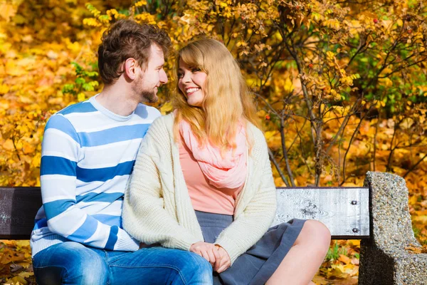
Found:
[{"label": "man's short curly brown hair", "polygon": [[166,31],[150,24],[137,24],[132,20],[120,20],[102,34],[98,48],[98,68],[105,85],[114,83],[124,72],[120,66],[127,58],[135,58],[145,67],[150,47],[155,43],[167,55],[171,39]]}]

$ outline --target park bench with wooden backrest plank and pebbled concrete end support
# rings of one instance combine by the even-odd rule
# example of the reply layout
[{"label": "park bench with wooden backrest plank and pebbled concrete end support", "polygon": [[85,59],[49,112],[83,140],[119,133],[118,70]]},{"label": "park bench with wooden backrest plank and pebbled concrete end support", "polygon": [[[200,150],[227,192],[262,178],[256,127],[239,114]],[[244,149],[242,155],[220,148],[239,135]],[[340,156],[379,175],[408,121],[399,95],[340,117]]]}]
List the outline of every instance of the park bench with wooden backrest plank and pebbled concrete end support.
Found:
[{"label": "park bench with wooden backrest plank and pebbled concrete end support", "polygon": [[[40,187],[0,187],[0,239],[29,239]],[[364,187],[278,188],[273,225],[317,219],[332,239],[362,239],[359,284],[427,284],[427,254],[411,254],[408,189],[397,175],[368,172]]]}]

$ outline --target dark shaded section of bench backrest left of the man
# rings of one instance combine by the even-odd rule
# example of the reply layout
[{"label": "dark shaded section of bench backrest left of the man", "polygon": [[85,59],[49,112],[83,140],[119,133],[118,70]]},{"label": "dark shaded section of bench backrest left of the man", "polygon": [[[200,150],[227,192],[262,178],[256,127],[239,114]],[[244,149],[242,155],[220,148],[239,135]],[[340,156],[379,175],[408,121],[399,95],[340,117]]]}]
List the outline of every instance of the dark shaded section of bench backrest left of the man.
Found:
[{"label": "dark shaded section of bench backrest left of the man", "polygon": [[0,187],[0,239],[29,239],[40,207],[40,187]]}]

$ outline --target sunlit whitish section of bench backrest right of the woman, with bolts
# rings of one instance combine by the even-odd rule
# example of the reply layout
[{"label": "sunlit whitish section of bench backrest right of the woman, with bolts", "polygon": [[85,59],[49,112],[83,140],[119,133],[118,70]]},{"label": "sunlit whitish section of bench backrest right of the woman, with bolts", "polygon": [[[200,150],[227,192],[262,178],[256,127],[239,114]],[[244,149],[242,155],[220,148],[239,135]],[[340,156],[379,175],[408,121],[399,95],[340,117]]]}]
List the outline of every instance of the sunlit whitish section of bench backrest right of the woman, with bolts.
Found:
[{"label": "sunlit whitish section of bench backrest right of the woman, with bolts", "polygon": [[273,225],[292,218],[323,222],[332,239],[369,239],[369,188],[278,188]]}]

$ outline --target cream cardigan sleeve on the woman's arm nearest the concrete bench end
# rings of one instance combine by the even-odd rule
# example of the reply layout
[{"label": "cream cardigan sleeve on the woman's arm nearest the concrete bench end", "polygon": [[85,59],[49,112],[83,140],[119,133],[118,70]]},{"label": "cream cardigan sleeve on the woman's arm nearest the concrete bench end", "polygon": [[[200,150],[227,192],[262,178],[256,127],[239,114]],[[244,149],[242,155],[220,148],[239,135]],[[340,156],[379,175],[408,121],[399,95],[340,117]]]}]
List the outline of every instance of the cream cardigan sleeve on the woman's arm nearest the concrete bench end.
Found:
[{"label": "cream cardigan sleeve on the woman's arm nearest the concrete bench end", "polygon": [[[226,249],[230,256],[231,264],[253,246],[267,232],[273,222],[276,210],[276,189],[271,171],[268,149],[264,137],[262,147],[257,151],[253,148],[253,156],[260,155],[260,182],[255,195],[247,203],[246,208],[236,217],[216,239],[216,244]],[[258,140],[259,141],[259,140]],[[257,173],[257,169],[253,170]],[[255,180],[253,180],[254,183]],[[250,186],[250,185],[248,185]],[[244,194],[244,193],[243,193]],[[245,199],[246,197],[241,197]]]}]

